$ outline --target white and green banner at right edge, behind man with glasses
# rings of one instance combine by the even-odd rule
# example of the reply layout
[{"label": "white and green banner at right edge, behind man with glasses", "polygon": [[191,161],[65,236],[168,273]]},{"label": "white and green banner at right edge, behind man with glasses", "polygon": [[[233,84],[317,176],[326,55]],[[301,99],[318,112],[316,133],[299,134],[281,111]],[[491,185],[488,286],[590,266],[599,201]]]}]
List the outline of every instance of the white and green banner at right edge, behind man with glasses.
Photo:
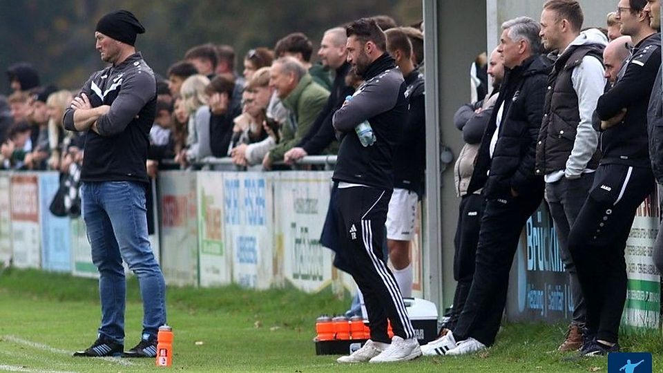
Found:
[{"label": "white and green banner at right edge, behind man with glasses", "polygon": [[622,325],[627,329],[657,329],[661,310],[661,280],[653,260],[653,245],[659,227],[657,193],[652,193],[635,213],[626,240],[626,305]]}]

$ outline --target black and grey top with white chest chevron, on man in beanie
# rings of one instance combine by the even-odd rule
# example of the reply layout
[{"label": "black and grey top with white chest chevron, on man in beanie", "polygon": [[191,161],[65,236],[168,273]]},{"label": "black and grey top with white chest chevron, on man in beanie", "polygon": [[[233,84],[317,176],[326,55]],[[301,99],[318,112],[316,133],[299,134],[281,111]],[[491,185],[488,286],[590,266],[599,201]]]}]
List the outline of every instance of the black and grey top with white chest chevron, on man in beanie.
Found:
[{"label": "black and grey top with white chest chevron, on man in beanie", "polygon": [[[154,122],[157,84],[152,69],[135,53],[121,64],[99,70],[78,93],[93,108],[110,105],[97,119],[99,133],[87,131],[82,182],[148,182],[146,161]],[[74,109],[64,113],[64,128],[76,131]]]}]

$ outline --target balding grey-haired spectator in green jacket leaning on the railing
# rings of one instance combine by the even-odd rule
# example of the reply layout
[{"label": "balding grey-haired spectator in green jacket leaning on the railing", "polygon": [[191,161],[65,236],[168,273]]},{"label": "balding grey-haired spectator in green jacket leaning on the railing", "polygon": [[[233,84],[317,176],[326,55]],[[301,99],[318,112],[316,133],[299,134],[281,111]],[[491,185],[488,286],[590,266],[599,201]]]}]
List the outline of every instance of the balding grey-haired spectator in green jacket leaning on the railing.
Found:
[{"label": "balding grey-haired spectator in green jacket leaning on the railing", "polygon": [[280,141],[262,160],[262,167],[268,170],[273,162],[282,161],[285,153],[302,141],[329,97],[329,91],[314,82],[295,57],[281,57],[273,62],[269,69],[269,86],[290,115],[286,123],[281,124],[277,136]]}]

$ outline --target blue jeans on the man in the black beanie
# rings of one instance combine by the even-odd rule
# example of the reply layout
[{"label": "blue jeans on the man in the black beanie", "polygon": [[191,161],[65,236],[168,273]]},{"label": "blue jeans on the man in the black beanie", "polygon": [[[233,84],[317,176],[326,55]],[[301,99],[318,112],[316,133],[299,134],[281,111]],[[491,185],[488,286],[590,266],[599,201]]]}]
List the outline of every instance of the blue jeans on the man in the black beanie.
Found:
[{"label": "blue jeans on the man in the black beanie", "polygon": [[140,285],[143,334],[155,336],[166,323],[166,283],[148,240],[145,187],[137,182],[84,182],[81,199],[92,260],[99,269],[99,334],[124,343],[124,260]]}]

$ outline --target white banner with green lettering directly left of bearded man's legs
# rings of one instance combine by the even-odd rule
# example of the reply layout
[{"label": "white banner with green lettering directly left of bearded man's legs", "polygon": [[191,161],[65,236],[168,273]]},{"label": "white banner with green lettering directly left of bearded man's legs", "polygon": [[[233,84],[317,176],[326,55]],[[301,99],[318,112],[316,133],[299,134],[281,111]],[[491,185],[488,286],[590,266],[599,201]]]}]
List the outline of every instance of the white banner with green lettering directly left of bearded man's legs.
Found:
[{"label": "white banner with green lettering directly left of bearded man's legs", "polygon": [[344,291],[340,271],[332,271],[332,251],[320,245],[330,180],[328,171],[291,171],[280,173],[274,182],[277,262],[285,280],[304,291],[320,291],[333,283],[335,291]]}]

